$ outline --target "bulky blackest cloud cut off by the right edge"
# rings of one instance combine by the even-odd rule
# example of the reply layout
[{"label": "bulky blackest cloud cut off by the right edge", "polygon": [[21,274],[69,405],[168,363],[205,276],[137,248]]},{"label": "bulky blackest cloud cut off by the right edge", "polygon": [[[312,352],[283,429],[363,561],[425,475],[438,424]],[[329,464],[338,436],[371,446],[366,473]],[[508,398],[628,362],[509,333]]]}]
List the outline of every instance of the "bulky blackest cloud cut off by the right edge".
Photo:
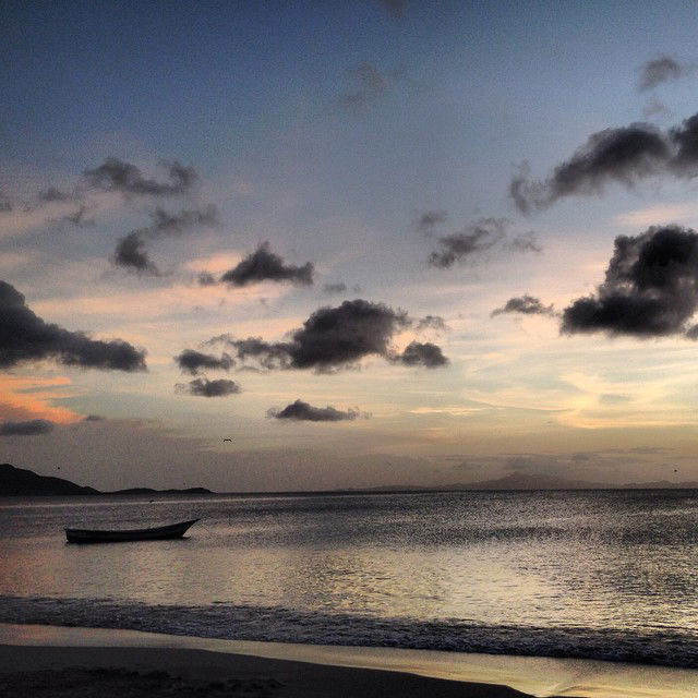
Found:
[{"label": "bulky blackest cloud cut off by the right edge", "polygon": [[698,309],[698,233],[679,226],[621,236],[593,296],[563,313],[562,332],[698,338],[686,324]]}]

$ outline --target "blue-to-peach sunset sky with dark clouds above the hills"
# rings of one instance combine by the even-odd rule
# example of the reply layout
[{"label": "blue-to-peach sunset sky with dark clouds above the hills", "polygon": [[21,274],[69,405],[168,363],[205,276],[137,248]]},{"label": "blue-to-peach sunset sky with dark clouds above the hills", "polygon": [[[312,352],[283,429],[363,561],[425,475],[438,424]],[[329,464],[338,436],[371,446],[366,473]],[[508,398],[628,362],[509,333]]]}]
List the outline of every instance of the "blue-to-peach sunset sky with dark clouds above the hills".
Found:
[{"label": "blue-to-peach sunset sky with dark clouds above the hills", "polygon": [[0,460],[698,480],[697,31],[691,2],[0,0]]}]

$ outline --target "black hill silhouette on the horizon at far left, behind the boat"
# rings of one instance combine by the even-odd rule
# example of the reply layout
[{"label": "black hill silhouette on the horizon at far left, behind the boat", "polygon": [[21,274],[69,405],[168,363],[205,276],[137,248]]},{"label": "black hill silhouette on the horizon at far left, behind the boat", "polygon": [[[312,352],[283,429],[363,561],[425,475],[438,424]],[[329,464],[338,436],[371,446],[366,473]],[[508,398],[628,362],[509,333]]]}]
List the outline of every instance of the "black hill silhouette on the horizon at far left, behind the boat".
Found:
[{"label": "black hill silhouette on the horizon at far left, behind the boat", "polygon": [[32,470],[15,468],[9,462],[0,464],[0,496],[67,496],[74,494],[213,494],[205,488],[188,490],[152,490],[132,488],[116,492],[100,492],[94,488],[83,488],[70,480],[38,476]]}]

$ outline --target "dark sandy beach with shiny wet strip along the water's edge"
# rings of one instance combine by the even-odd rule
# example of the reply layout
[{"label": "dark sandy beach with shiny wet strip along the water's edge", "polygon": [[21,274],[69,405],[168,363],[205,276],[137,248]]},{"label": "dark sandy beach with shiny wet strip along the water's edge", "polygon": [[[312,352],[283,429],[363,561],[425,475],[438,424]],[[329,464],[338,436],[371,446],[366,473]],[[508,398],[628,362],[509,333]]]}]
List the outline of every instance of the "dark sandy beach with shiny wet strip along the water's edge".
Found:
[{"label": "dark sandy beach with shiny wet strip along the water's edge", "polygon": [[[22,672],[33,672],[31,681],[43,681],[40,672],[49,670],[53,678],[46,688],[50,690],[60,672],[67,673],[73,682],[75,672],[87,672],[83,678],[89,684],[94,683],[97,667],[116,672],[103,676],[104,681],[119,685],[113,688],[115,696],[123,696],[123,682],[130,681],[129,686],[133,688],[154,671],[164,673],[165,683],[178,676],[183,677],[182,681],[203,682],[204,685],[195,688],[202,696],[207,695],[206,682],[219,684],[220,681],[243,679],[254,684],[244,688],[251,691],[246,695],[279,698],[337,693],[348,698],[370,695],[689,698],[698,695],[698,671],[695,670],[592,660],[253,642],[136,630],[0,624],[0,674],[5,678],[14,676],[20,682],[27,681]],[[133,671],[142,675],[129,679],[127,674]],[[166,681],[166,677],[169,678]],[[219,695],[215,687],[209,690],[212,696]],[[148,685],[143,696],[148,691],[160,695],[153,685]],[[109,687],[100,695],[109,698]]]}]

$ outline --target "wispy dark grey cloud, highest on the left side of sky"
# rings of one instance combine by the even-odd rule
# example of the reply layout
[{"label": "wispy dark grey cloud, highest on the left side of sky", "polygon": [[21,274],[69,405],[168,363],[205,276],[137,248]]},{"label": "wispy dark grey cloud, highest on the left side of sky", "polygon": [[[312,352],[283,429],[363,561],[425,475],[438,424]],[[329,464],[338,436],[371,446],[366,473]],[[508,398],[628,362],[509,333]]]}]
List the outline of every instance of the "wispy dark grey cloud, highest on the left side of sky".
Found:
[{"label": "wispy dark grey cloud, highest on the left side of sky", "polygon": [[178,196],[185,194],[196,183],[198,174],[193,167],[184,167],[177,160],[165,163],[168,182],[146,179],[141,170],[130,163],[108,157],[94,170],[85,170],[87,183],[95,189],[141,196]]}]

